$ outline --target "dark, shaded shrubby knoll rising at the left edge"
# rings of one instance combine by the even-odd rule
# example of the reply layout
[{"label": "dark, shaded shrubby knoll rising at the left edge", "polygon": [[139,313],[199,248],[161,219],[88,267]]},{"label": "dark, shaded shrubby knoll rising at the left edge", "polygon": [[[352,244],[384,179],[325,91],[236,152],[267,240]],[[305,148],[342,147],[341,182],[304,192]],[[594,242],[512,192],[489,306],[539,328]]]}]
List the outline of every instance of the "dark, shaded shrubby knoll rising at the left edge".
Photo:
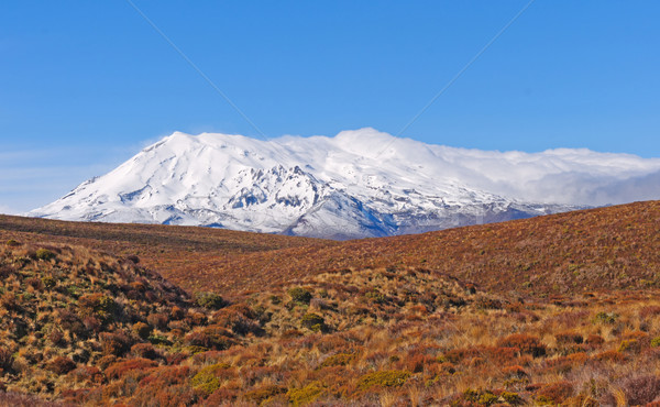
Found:
[{"label": "dark, shaded shrubby knoll rising at the left edge", "polygon": [[[140,346],[151,330],[144,321],[190,304],[157,274],[84,248],[9,244],[0,264],[12,276],[0,282],[0,376],[11,388],[53,394],[81,383],[98,386],[98,372],[89,370],[114,363],[103,356],[128,356],[133,349],[138,358],[157,359],[155,350]],[[170,333],[165,328],[160,334]]]}]

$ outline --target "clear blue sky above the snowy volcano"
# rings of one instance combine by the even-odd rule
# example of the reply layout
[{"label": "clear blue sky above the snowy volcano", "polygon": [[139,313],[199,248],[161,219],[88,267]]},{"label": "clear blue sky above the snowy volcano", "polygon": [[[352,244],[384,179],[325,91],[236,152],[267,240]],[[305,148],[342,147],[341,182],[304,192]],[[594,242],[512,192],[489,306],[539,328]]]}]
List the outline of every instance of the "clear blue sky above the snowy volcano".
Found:
[{"label": "clear blue sky above the snowy volcano", "polygon": [[[527,3],[133,0],[267,138],[398,134]],[[660,2],[536,0],[402,135],[660,156]],[[261,136],[124,0],[0,6],[0,211],[175,130]]]}]

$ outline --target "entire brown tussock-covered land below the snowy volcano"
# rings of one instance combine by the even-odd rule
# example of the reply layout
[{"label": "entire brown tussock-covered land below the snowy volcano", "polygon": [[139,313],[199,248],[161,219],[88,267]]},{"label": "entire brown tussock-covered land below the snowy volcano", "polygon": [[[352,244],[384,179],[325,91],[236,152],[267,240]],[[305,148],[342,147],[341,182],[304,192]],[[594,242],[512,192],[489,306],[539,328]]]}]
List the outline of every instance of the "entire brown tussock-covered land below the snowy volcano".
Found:
[{"label": "entire brown tussock-covered land below the snowy volcano", "polygon": [[660,202],[343,243],[0,221],[0,405],[660,402]]}]

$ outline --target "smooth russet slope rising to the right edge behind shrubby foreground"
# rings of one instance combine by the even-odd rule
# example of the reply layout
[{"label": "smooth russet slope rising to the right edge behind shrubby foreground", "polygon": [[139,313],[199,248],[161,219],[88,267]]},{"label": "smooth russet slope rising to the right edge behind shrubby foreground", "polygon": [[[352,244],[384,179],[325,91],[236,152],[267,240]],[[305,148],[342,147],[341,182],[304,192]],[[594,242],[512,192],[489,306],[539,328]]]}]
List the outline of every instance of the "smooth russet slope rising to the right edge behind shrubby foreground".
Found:
[{"label": "smooth russet slope rising to the right edge behind shrubby foreground", "polygon": [[[572,211],[424,234],[246,254],[205,267],[282,282],[346,267],[416,266],[501,293],[550,295],[660,285],[660,201]],[[257,286],[229,277],[216,287]],[[231,282],[231,283],[230,283]]]}]

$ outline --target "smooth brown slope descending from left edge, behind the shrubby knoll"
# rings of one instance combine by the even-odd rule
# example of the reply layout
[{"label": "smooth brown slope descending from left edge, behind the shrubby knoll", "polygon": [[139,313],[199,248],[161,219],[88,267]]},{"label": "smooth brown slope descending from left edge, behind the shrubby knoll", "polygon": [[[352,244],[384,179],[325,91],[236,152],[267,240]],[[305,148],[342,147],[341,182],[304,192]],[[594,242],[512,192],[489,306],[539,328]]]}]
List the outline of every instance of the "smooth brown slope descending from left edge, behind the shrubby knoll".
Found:
[{"label": "smooth brown slope descending from left edge, behind the shrubby knoll", "polygon": [[7,239],[76,244],[124,257],[136,255],[143,265],[190,292],[211,285],[216,289],[223,288],[227,295],[244,286],[240,277],[243,271],[218,275],[218,264],[240,264],[245,255],[255,252],[337,244],[319,239],[212,228],[67,222],[0,215],[0,241]]}]

